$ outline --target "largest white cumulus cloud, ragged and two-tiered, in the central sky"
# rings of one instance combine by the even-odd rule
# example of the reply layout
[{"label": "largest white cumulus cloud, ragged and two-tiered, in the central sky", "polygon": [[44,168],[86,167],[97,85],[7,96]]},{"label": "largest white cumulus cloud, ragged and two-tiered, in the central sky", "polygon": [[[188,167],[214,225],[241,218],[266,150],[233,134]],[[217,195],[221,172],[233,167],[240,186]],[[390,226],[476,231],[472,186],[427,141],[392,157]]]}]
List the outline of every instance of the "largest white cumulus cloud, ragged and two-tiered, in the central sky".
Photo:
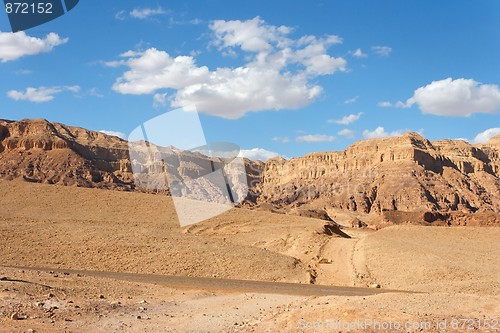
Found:
[{"label": "largest white cumulus cloud, ragged and two-tiered, in the central sky", "polygon": [[113,89],[122,94],[155,94],[174,90],[170,106],[196,105],[198,111],[236,119],[247,112],[297,109],[312,103],[323,91],[313,79],[345,71],[347,62],[327,53],[341,42],[338,36],[289,38],[292,29],[266,24],[256,17],[247,21],[213,21],[216,46],[222,53],[244,51],[239,67],[210,70],[193,56],[173,57],[154,48],[126,52],[127,59],[106,63],[125,65]]}]

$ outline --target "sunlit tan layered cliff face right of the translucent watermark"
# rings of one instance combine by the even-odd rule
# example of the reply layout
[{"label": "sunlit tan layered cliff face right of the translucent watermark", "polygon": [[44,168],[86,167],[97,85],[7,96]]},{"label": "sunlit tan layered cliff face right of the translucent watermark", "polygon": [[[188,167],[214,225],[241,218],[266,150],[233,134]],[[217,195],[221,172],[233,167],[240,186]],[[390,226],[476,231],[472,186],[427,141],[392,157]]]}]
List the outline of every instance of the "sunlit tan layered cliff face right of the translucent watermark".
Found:
[{"label": "sunlit tan layered cliff face right of the translucent watermark", "polygon": [[259,202],[383,211],[500,212],[500,137],[483,145],[417,133],[265,164]]}]

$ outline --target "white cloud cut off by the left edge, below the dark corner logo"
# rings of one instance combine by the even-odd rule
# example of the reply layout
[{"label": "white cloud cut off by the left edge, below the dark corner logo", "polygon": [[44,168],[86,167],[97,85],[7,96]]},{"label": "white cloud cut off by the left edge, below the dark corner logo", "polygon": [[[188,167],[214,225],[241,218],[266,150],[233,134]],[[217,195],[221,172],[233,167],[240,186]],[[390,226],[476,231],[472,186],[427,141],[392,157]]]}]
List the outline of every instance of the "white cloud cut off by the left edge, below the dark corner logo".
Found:
[{"label": "white cloud cut off by the left edge, below the dark corner logo", "polygon": [[24,56],[50,52],[54,47],[67,42],[68,38],[61,38],[53,32],[40,39],[30,37],[24,31],[16,33],[0,31],[0,61],[7,62]]}]

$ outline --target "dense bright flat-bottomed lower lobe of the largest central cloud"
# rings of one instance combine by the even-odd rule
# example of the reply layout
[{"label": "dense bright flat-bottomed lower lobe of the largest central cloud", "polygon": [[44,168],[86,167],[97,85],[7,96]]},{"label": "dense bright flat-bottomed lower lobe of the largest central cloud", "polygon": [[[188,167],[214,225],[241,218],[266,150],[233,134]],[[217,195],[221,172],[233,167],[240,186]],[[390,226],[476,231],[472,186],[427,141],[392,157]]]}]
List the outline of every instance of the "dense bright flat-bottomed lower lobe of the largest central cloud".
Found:
[{"label": "dense bright flat-bottomed lower lobe of the largest central cloud", "polygon": [[252,111],[301,108],[321,92],[320,86],[309,86],[303,75],[254,67],[219,68],[209,82],[178,90],[172,106],[196,105],[199,111],[236,119]]}]

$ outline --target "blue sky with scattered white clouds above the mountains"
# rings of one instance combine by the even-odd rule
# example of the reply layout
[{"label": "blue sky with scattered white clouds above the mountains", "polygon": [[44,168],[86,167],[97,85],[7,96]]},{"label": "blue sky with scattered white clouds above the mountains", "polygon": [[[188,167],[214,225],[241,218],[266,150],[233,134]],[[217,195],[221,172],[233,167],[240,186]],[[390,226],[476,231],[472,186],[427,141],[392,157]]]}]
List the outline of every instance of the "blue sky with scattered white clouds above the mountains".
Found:
[{"label": "blue sky with scattered white clouds above the mountains", "polygon": [[85,1],[12,33],[0,118],[127,137],[196,108],[208,142],[255,159],[418,132],[500,134],[500,2]]}]

